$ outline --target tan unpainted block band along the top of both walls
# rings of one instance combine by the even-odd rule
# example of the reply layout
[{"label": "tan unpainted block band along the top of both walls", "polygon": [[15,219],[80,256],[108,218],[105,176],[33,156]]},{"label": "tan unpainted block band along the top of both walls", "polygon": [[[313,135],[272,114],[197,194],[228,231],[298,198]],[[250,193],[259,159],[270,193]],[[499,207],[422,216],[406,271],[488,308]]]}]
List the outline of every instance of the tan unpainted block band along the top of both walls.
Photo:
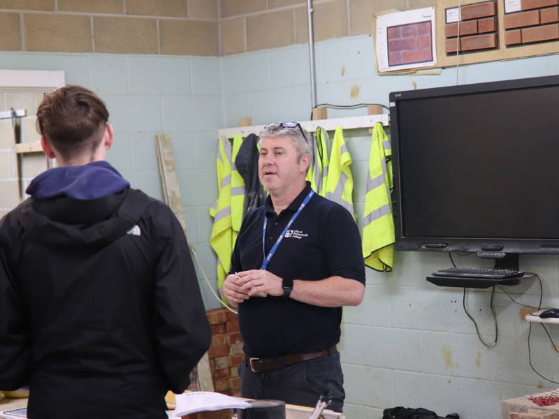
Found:
[{"label": "tan unpainted block band along the top of both walls", "polygon": [[[372,15],[435,0],[315,0],[314,38],[370,34]],[[305,0],[3,0],[0,50],[215,56],[308,41]]]}]

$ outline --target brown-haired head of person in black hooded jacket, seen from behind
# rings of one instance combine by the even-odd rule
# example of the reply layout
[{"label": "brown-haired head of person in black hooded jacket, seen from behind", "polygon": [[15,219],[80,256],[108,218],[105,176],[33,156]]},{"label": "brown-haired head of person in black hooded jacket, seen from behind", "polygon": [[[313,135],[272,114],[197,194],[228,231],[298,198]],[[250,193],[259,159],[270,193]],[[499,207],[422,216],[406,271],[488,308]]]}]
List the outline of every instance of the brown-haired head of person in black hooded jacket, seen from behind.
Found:
[{"label": "brown-haired head of person in black hooded jacket, seen from behind", "polygon": [[109,112],[93,91],[68,84],[43,98],[37,109],[37,131],[64,159],[92,152],[103,139]]}]

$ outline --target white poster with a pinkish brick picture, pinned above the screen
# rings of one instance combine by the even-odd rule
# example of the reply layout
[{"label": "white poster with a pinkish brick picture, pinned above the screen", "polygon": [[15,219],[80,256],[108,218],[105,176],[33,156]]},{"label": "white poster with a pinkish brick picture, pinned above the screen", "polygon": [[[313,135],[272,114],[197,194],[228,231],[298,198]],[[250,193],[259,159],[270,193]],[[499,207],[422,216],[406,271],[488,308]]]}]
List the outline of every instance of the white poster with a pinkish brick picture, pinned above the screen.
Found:
[{"label": "white poster with a pinkish brick picture, pinned above the screen", "polygon": [[375,27],[379,72],[437,65],[435,8],[377,15]]}]

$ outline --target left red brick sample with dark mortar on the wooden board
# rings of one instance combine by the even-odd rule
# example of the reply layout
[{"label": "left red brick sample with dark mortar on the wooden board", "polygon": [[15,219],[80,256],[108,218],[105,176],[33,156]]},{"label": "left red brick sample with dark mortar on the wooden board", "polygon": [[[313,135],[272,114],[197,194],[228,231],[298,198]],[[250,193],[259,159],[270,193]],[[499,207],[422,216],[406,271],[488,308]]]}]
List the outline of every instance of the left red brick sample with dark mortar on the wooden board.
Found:
[{"label": "left red brick sample with dark mortar on the wooden board", "polygon": [[458,26],[460,26],[460,52],[473,52],[498,47],[497,8],[495,1],[474,3],[460,8],[458,22],[447,23],[444,27],[445,50],[455,54],[458,47]]}]

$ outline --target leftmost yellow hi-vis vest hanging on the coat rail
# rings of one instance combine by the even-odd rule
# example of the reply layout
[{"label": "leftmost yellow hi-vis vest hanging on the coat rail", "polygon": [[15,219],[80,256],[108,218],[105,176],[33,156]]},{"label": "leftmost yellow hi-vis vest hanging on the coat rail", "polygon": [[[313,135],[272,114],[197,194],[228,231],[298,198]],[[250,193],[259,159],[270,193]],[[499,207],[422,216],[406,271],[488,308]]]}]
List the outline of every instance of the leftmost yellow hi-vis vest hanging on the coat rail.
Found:
[{"label": "leftmost yellow hi-vis vest hanging on the coat rail", "polygon": [[221,288],[231,269],[233,228],[231,224],[231,143],[219,138],[217,149],[217,200],[210,207],[214,218],[210,246],[217,254],[217,288]]}]

